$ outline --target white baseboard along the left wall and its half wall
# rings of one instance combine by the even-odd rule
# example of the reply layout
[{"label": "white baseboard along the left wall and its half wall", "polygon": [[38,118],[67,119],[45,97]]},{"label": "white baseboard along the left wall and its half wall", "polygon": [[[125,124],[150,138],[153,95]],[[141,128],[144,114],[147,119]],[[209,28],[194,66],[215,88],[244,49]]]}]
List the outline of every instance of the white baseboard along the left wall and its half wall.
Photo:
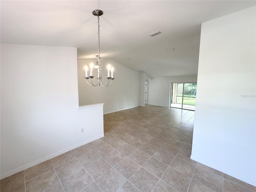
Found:
[{"label": "white baseboard along the left wall and its half wall", "polygon": [[80,144],[74,145],[74,146],[72,146],[72,147],[66,148],[66,149],[64,149],[64,150],[61,150],[61,151],[59,151],[59,152],[56,152],[56,153],[51,154],[51,155],[49,155],[49,156],[46,156],[46,157],[44,157],[44,158],[38,159],[38,160],[36,160],[36,161],[34,161],[34,162],[31,162],[31,163],[28,163],[28,164],[26,164],[26,165],[24,165],[24,166],[20,166],[19,168],[16,168],[16,169],[11,170],[11,171],[9,171],[9,172],[3,173],[3,174],[1,174],[1,179],[4,179],[4,178],[6,178],[6,177],[8,177],[8,176],[11,176],[11,175],[13,175],[13,174],[16,174],[16,173],[18,173],[18,172],[21,172],[21,171],[23,171],[23,170],[25,170],[25,169],[27,169],[27,168],[30,168],[30,167],[32,167],[32,166],[35,166],[35,165],[40,164],[40,163],[42,163],[42,162],[45,162],[45,161],[47,161],[47,160],[50,160],[50,159],[52,159],[52,158],[54,158],[54,157],[57,157],[57,156],[59,156],[59,155],[61,155],[61,154],[64,154],[64,153],[66,153],[66,152],[68,152],[68,151],[70,151],[70,150],[73,150],[73,149],[75,149],[75,148],[78,148],[78,147],[80,147],[80,146],[82,146],[82,145],[85,145],[85,144],[87,144],[87,143],[90,143],[90,142],[95,141],[95,140],[97,140],[97,139],[99,139],[99,138],[102,138],[102,137],[104,137],[104,134],[99,135],[99,136],[97,136],[97,137],[94,137],[94,138],[92,138],[92,139],[90,139],[90,140],[87,140],[87,141],[85,141],[85,142],[82,142],[82,143],[80,143]]}]

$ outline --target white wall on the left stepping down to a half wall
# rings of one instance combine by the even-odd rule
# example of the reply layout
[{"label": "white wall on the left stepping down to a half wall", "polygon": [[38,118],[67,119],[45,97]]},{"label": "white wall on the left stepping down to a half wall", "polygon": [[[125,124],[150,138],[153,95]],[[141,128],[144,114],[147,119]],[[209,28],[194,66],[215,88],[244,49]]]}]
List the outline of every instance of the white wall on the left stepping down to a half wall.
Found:
[{"label": "white wall on the left stepping down to a half wall", "polygon": [[102,136],[102,106],[78,110],[76,48],[1,44],[1,178]]}]

